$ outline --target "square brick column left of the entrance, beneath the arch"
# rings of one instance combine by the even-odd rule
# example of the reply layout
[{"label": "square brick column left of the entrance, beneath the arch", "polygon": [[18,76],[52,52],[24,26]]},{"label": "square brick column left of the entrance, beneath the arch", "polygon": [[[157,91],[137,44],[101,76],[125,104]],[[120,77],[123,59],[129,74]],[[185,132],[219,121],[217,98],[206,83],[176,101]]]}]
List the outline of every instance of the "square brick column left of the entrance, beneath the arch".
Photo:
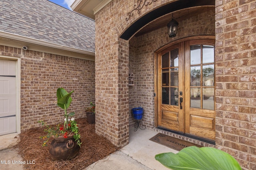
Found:
[{"label": "square brick column left of the entrance, beneath the arch", "polygon": [[96,38],[96,51],[96,133],[122,147],[129,137],[129,43],[113,37]]}]

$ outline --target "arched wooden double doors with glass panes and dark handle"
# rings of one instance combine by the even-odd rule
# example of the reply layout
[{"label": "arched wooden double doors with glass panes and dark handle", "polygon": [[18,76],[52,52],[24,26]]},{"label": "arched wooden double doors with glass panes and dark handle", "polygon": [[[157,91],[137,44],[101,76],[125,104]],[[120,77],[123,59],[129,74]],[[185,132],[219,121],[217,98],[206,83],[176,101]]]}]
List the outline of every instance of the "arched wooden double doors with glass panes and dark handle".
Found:
[{"label": "arched wooden double doors with glass panes and dark handle", "polygon": [[190,40],[157,55],[158,126],[215,141],[214,40]]}]

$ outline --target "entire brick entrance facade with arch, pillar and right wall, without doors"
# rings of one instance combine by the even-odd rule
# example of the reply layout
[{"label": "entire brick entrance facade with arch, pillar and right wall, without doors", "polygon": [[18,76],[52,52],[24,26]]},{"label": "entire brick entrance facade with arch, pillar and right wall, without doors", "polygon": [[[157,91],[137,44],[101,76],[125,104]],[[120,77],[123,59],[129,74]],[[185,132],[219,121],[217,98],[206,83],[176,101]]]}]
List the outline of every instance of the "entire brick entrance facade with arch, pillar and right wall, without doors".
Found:
[{"label": "entire brick entrance facade with arch, pillar and right wall, without doors", "polygon": [[[198,10],[190,13],[192,8]],[[255,0],[104,0],[86,11],[96,22],[96,132],[115,145],[127,145],[134,123],[131,109],[142,106],[147,128],[212,146],[159,130],[156,100],[160,99],[154,94],[159,51],[182,40],[214,39],[212,147],[230,153],[244,169],[256,169],[255,9]],[[86,14],[80,7],[73,10]],[[168,21],[162,25],[159,21],[171,13],[179,23],[174,38],[167,35]],[[128,86],[129,72],[134,73],[134,86]]]}]

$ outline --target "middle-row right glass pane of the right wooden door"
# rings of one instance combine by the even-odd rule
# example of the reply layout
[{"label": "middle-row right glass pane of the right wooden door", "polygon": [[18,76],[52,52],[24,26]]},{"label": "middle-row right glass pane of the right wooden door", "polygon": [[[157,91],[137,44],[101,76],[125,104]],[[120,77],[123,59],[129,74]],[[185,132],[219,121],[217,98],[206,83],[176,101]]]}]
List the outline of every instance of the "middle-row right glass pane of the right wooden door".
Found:
[{"label": "middle-row right glass pane of the right wooden door", "polygon": [[203,65],[203,86],[214,86],[214,64]]}]

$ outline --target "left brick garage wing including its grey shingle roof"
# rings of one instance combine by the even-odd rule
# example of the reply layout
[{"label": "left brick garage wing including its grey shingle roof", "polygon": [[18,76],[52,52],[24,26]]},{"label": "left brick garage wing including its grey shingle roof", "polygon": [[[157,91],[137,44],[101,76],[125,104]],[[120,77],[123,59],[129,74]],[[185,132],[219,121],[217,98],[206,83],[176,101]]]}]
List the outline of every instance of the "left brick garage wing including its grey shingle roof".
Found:
[{"label": "left brick garage wing including its grey shingle roof", "polygon": [[[15,62],[17,73],[14,132],[38,127],[39,120],[61,123],[60,87],[74,90],[68,110],[86,117],[85,108],[95,101],[94,21],[47,0],[1,1],[0,8],[0,61]],[[5,119],[0,114],[1,130]]]}]

